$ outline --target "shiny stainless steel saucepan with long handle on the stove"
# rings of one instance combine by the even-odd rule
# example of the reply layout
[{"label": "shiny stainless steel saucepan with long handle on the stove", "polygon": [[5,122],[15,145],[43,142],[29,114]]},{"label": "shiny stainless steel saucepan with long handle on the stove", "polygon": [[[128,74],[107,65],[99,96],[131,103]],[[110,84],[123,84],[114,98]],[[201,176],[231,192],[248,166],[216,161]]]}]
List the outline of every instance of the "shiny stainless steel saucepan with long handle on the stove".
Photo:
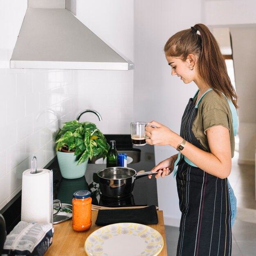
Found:
[{"label": "shiny stainless steel saucepan with long handle on the stove", "polygon": [[135,179],[156,173],[158,171],[137,173],[128,167],[109,167],[98,172],[99,187],[103,195],[121,198],[132,193]]}]

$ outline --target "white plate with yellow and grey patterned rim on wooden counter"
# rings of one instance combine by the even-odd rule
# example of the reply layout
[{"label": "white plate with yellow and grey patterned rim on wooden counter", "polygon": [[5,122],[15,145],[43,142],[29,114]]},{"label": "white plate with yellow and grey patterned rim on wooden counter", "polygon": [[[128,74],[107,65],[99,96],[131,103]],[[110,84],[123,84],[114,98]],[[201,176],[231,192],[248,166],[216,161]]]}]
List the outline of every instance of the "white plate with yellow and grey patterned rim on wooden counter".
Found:
[{"label": "white plate with yellow and grey patterned rim on wooden counter", "polygon": [[161,234],[138,223],[116,223],[94,231],[85,241],[88,256],[156,256],[164,246]]}]

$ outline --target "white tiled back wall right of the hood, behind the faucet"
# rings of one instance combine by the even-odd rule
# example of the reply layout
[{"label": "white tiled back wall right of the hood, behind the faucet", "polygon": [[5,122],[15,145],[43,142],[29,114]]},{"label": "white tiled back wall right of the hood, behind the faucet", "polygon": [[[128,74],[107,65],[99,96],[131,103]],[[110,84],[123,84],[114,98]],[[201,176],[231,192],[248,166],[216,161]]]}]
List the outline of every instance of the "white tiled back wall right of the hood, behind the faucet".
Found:
[{"label": "white tiled back wall right of the hood, behind the faucet", "polygon": [[[133,0],[76,1],[76,17],[94,34],[133,61]],[[133,121],[133,70],[79,71],[79,111],[86,113],[81,121],[93,121],[105,134],[128,134]]]}]

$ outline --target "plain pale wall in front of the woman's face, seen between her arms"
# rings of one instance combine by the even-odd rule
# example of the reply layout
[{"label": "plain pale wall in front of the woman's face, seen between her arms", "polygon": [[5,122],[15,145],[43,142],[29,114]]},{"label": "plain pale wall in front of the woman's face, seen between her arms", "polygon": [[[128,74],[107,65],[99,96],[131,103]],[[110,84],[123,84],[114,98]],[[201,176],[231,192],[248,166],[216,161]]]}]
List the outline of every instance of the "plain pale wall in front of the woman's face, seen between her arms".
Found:
[{"label": "plain pale wall in front of the woman's face, seen between her arms", "polygon": [[[135,1],[135,70],[134,116],[136,121],[158,121],[180,133],[182,114],[195,84],[185,85],[164,56],[164,44],[170,36],[188,29],[201,19],[201,0],[196,1]],[[156,162],[177,150],[170,146],[155,146]],[[176,180],[172,175],[157,180],[159,208],[164,211],[166,225],[178,226],[180,210]]]}]

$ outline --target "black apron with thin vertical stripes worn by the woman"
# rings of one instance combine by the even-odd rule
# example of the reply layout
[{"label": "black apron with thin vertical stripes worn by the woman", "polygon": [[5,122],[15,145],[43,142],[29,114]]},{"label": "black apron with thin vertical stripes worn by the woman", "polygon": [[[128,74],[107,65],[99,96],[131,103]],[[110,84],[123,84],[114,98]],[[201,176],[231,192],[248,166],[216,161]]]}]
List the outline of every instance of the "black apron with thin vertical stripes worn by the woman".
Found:
[{"label": "black apron with thin vertical stripes worn by the woman", "polygon": [[[180,136],[202,149],[192,132],[198,109],[189,99]],[[189,165],[182,158],[177,174],[182,212],[177,256],[231,256],[231,209],[227,179]]]}]

